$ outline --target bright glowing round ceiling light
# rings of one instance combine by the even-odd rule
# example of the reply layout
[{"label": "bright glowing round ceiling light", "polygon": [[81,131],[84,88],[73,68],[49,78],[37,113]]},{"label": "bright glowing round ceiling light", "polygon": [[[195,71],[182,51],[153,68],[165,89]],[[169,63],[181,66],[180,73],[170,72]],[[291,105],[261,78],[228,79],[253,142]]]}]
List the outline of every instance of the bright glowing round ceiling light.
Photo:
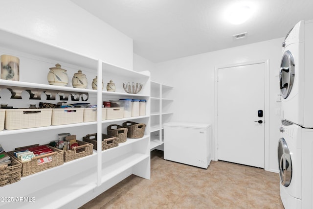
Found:
[{"label": "bright glowing round ceiling light", "polygon": [[249,6],[232,6],[226,10],[226,19],[232,24],[245,23],[251,17],[252,11]]}]

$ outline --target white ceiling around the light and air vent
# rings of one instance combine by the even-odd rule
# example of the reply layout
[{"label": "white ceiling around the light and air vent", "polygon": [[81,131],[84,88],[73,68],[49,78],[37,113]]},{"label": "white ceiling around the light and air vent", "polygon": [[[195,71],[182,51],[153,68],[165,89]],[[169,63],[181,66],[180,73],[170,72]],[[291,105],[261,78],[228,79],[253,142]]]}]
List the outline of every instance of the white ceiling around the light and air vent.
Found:
[{"label": "white ceiling around the light and air vent", "polygon": [[[313,0],[72,0],[134,40],[134,53],[162,62],[285,37],[300,20],[313,19]],[[231,4],[255,11],[246,23],[224,18]],[[247,32],[246,39],[233,40]]]}]

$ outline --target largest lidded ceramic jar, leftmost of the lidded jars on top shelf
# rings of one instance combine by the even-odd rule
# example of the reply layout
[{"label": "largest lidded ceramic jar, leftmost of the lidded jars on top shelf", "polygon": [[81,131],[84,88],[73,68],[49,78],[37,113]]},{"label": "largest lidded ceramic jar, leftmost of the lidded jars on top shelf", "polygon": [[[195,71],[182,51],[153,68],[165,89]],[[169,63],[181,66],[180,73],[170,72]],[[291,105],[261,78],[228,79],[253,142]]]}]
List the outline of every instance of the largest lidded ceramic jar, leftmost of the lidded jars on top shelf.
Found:
[{"label": "largest lidded ceramic jar, leftmost of the lidded jars on top shelf", "polygon": [[48,82],[50,85],[54,86],[67,86],[67,70],[62,69],[60,64],[56,64],[55,67],[50,68],[48,72]]}]

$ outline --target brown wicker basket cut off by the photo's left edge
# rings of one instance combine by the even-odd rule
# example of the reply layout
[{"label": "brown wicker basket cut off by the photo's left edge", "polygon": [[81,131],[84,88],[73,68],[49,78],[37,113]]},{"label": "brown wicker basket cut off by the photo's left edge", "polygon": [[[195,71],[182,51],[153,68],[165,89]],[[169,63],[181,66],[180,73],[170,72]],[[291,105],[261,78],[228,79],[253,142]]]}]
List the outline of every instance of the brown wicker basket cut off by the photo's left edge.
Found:
[{"label": "brown wicker basket cut off by the photo's left edge", "polygon": [[0,186],[18,182],[22,176],[22,163],[18,162],[11,155],[11,165],[0,166]]}]

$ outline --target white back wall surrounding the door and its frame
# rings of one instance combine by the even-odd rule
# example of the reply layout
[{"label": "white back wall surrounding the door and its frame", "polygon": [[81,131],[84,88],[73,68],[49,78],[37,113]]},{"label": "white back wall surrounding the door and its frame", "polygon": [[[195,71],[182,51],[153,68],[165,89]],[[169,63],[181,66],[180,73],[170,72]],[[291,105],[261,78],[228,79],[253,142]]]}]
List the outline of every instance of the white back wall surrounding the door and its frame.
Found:
[{"label": "white back wall surrounding the door and its frame", "polygon": [[269,60],[268,170],[277,172],[277,141],[280,116],[275,109],[279,93],[278,73],[283,38],[157,63],[151,79],[173,86],[173,120],[209,122],[214,125],[214,71],[228,64]]}]

